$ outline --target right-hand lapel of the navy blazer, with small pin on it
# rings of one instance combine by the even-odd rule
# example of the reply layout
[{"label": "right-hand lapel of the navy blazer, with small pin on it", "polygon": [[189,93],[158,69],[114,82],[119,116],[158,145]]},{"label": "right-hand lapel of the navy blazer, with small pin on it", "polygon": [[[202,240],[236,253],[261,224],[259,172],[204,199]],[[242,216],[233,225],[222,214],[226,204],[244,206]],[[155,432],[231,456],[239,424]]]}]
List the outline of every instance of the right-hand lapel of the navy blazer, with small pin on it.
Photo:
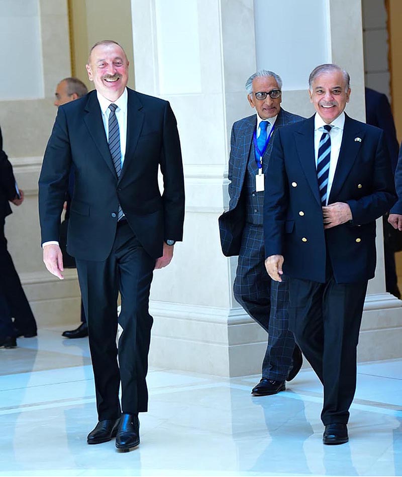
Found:
[{"label": "right-hand lapel of the navy blazer, with small pin on it", "polygon": [[[335,169],[334,181],[331,187],[329,202],[340,192],[345,180],[355,163],[357,153],[361,147],[361,141],[364,139],[364,131],[360,124],[345,114],[345,126],[343,128],[341,149],[339,151],[338,163]],[[361,141],[355,141],[355,138]]]}]

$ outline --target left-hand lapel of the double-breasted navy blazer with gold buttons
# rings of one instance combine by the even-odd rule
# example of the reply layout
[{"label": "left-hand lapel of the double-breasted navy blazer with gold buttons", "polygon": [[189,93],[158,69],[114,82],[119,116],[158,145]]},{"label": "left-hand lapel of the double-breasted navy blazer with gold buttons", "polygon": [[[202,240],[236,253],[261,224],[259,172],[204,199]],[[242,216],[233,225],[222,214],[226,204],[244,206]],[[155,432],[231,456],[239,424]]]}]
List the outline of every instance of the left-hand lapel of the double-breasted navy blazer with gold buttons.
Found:
[{"label": "left-hand lapel of the double-breasted navy blazer with gold buttons", "polygon": [[321,205],[318,188],[317,168],[314,151],[314,116],[301,123],[300,129],[294,132],[296,150],[300,165],[317,202]]}]

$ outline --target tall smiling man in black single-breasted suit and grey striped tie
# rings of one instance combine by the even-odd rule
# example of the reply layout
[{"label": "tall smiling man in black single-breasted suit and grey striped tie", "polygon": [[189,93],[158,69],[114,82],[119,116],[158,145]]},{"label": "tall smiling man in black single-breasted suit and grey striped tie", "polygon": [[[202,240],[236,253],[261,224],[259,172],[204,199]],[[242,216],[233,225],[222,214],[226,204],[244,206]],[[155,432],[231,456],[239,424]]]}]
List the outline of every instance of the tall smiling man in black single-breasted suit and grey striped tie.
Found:
[{"label": "tall smiling man in black single-breasted suit and grey striped tie", "polygon": [[[57,240],[68,175],[75,166],[67,251],[77,265],[98,413],[87,443],[116,436],[121,450],[139,444],[138,413],[147,411],[153,270],[169,264],[175,241],[182,240],[184,219],[175,117],[167,101],[126,87],[128,67],[116,42],[92,47],[86,69],[95,90],[59,107],[39,179],[44,262],[63,278]],[[123,332],[117,349],[118,321]]]}]

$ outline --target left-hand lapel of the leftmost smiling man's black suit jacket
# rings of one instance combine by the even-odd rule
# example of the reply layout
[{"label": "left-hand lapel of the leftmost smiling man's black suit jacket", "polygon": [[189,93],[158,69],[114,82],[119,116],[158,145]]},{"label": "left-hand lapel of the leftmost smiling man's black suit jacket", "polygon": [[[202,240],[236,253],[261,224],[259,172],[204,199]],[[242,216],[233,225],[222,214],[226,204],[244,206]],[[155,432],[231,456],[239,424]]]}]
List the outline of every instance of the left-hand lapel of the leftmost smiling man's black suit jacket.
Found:
[{"label": "left-hand lapel of the leftmost smiling man's black suit jacket", "polygon": [[105,159],[111,172],[117,177],[112,156],[110,155],[108,141],[106,139],[105,126],[100,111],[99,102],[96,98],[96,91],[89,93],[88,101],[85,106],[84,122],[88,128],[89,134],[99,149],[100,154]]}]

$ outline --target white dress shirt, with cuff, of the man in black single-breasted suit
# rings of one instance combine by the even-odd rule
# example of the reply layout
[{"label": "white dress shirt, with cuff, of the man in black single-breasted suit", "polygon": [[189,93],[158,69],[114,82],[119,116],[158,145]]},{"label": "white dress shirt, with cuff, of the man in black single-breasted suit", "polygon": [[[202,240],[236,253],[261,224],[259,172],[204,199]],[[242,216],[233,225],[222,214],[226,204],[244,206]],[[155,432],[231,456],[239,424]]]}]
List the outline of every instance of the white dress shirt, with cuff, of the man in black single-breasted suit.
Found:
[{"label": "white dress shirt, with cuff, of the man in black single-breasted suit", "polygon": [[[109,115],[111,110],[109,105],[115,104],[116,108],[116,118],[119,124],[119,133],[120,133],[120,151],[122,154],[122,168],[124,162],[124,155],[126,154],[126,144],[127,144],[127,99],[128,93],[127,88],[124,89],[122,96],[117,99],[115,102],[107,100],[102,94],[99,94],[96,91],[97,101],[99,102],[100,111],[102,111],[102,120],[104,122],[104,128],[106,133],[106,139],[109,142]],[[59,242],[56,240],[50,240],[49,242],[44,242],[42,248],[45,245],[58,245]]]}]

